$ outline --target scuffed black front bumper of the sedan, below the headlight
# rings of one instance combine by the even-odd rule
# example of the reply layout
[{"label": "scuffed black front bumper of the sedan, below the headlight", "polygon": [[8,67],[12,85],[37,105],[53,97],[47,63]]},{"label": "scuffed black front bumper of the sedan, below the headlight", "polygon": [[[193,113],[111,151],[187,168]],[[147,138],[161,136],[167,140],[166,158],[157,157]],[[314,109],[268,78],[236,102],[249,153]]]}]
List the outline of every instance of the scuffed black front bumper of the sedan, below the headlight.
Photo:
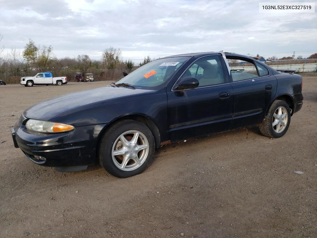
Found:
[{"label": "scuffed black front bumper of the sedan, below the headlight", "polygon": [[[82,167],[97,162],[97,142],[106,124],[76,127],[65,133],[38,133],[16,123],[11,135],[16,148],[39,165],[58,167]],[[77,169],[80,170],[80,169]],[[66,170],[67,171],[67,170]]]}]

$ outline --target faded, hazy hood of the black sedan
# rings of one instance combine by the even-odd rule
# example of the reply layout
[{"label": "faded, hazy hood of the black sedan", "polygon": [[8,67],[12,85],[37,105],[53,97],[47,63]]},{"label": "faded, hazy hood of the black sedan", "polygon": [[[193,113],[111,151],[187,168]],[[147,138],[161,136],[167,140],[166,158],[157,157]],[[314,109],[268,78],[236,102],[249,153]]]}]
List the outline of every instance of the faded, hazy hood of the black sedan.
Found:
[{"label": "faded, hazy hood of the black sedan", "polygon": [[40,102],[26,109],[23,114],[27,118],[50,120],[62,113],[80,107],[86,107],[89,106],[89,104],[97,104],[114,98],[127,97],[151,91],[152,90],[129,89],[122,87],[102,87],[84,90]]}]

